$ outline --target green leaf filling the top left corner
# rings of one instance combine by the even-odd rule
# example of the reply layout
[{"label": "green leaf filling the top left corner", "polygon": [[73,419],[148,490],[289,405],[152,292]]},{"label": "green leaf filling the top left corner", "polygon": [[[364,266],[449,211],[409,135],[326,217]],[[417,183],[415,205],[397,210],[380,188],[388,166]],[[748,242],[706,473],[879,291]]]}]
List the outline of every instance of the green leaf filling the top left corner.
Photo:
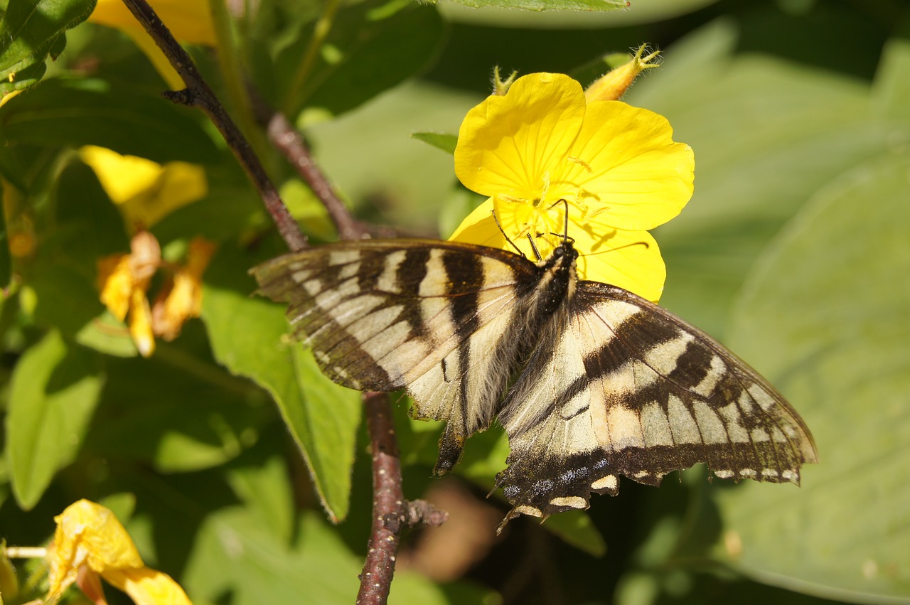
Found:
[{"label": "green leaf filling the top left corner", "polygon": [[14,0],[0,19],[0,96],[34,85],[48,55],[66,45],[65,32],[95,10],[96,0]]}]

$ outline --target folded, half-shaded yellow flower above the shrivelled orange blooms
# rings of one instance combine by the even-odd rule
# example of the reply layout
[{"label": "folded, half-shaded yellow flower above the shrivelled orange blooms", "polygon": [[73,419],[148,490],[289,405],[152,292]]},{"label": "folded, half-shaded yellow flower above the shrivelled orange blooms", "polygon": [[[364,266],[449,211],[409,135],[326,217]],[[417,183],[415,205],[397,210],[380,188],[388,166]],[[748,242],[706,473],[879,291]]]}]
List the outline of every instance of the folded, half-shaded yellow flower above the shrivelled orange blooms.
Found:
[{"label": "folded, half-shaded yellow flower above the shrivelled orange blooms", "polygon": [[177,208],[208,194],[206,171],[196,164],[167,162],[162,166],[145,157],[121,156],[96,146],[82,147],[79,156],[95,171],[131,229],[152,227]]}]

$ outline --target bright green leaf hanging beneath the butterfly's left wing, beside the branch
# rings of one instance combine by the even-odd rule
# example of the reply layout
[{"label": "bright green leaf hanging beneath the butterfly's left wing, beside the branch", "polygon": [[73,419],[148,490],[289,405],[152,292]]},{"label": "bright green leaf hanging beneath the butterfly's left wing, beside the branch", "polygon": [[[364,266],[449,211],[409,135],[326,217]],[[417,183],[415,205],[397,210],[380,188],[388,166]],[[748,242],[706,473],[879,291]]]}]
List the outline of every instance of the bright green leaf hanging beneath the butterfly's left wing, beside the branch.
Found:
[{"label": "bright green leaf hanging beneath the butterfly's left wing, beside the branch", "polygon": [[249,257],[222,250],[208,268],[202,318],[212,351],[232,372],[252,378],[275,398],[329,518],[344,519],[360,395],[331,382],[308,350],[288,342],[283,307],[250,296],[256,289],[246,274],[251,264]]}]

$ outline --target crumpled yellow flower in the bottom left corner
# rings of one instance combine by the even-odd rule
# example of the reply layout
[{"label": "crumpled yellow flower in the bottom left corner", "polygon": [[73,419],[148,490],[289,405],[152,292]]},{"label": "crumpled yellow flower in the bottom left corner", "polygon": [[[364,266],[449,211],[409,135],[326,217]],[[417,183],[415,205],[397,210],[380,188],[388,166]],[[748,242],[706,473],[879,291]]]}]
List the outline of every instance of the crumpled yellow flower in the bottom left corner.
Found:
[{"label": "crumpled yellow flower in the bottom left corner", "polygon": [[50,568],[46,603],[56,602],[73,583],[96,603],[106,603],[100,575],[139,605],[192,605],[170,576],[146,567],[109,509],[82,499],[54,520],[56,531],[46,558]]}]

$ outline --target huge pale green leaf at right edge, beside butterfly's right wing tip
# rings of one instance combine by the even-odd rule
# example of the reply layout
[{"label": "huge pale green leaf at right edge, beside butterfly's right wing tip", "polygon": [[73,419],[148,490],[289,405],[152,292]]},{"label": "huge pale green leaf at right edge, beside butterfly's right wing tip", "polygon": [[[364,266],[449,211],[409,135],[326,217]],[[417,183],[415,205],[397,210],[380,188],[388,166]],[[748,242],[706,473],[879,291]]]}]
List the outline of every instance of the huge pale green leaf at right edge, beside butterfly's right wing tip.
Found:
[{"label": "huge pale green leaf at right edge, beside butterfly's right wing tip", "polygon": [[718,556],[837,600],[910,602],[910,156],[825,187],[765,252],[731,344],[812,430],[803,487],[718,489]]}]

